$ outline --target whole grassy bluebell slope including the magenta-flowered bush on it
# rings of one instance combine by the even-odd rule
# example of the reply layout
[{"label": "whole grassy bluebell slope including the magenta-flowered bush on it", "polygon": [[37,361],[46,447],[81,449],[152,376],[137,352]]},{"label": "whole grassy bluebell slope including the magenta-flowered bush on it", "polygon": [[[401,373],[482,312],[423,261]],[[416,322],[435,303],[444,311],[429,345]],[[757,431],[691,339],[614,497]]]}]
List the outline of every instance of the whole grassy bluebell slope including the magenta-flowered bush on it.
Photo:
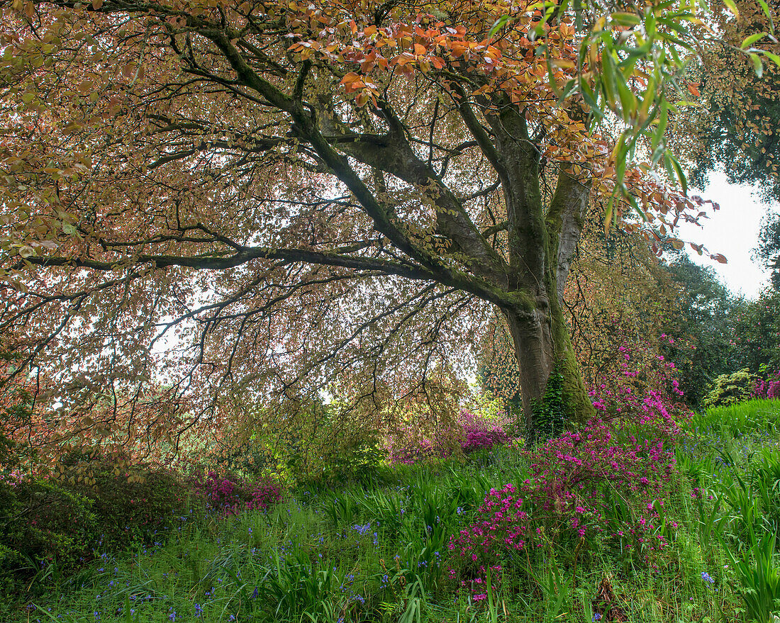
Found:
[{"label": "whole grassy bluebell slope including the magenta-flowered bush on it", "polygon": [[[634,377],[627,377],[629,380]],[[597,401],[598,402],[598,401]],[[396,463],[275,504],[216,473],[151,541],[37,575],[9,621],[772,621],[780,402],[652,392],[527,451]],[[628,401],[629,403],[632,401]],[[612,404],[615,407],[615,404]],[[626,405],[621,407],[623,411]],[[614,415],[614,409],[612,409]],[[227,483],[232,483],[232,486]],[[200,504],[190,512],[191,504]],[[210,508],[210,510],[206,510]]]}]

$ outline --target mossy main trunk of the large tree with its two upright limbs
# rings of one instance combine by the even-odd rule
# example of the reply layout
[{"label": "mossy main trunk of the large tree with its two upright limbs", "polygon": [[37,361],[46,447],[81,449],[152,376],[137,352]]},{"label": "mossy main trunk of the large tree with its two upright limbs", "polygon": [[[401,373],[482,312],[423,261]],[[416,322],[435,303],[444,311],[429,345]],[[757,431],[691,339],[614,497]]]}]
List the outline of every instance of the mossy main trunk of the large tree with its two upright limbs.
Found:
[{"label": "mossy main trunk of the large tree with its two upright limbs", "polygon": [[[524,131],[522,124],[520,129]],[[544,405],[551,373],[562,377],[558,398],[565,423],[583,423],[594,414],[562,309],[566,278],[587,211],[590,182],[583,182],[571,168],[560,168],[545,214],[537,186],[536,154],[517,145],[512,146],[512,154],[516,165],[509,169],[509,178],[512,172],[516,176],[511,192],[505,194],[512,232],[509,244],[516,257],[522,258],[514,268],[525,296],[519,298],[518,306],[502,311],[519,366],[526,438],[528,444],[534,444],[540,433],[534,412],[543,410],[537,406]]]}]

